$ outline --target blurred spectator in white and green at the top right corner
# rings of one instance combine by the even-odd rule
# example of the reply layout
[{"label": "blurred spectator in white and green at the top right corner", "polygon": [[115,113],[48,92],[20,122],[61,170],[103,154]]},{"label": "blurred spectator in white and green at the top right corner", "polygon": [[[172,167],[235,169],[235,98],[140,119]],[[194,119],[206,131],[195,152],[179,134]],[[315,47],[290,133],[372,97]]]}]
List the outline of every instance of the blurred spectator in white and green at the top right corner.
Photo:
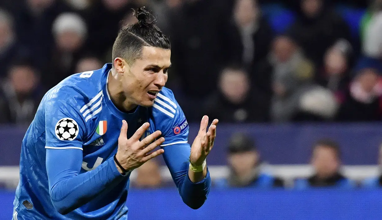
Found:
[{"label": "blurred spectator in white and green at the top right corner", "polygon": [[363,54],[370,58],[382,59],[382,1],[372,1],[364,15],[361,26]]}]

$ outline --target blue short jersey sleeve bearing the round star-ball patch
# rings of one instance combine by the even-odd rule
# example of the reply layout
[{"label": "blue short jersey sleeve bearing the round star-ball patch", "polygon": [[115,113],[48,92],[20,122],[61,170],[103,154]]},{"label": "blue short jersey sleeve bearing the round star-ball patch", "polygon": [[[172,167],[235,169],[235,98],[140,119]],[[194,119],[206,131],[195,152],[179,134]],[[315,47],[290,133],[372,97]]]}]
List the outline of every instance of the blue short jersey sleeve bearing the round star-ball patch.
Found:
[{"label": "blue short jersey sleeve bearing the round star-ball patch", "polygon": [[[59,90],[58,90],[59,91]],[[81,149],[86,140],[87,125],[80,113],[83,98],[74,90],[52,91],[44,102],[45,148]]]}]

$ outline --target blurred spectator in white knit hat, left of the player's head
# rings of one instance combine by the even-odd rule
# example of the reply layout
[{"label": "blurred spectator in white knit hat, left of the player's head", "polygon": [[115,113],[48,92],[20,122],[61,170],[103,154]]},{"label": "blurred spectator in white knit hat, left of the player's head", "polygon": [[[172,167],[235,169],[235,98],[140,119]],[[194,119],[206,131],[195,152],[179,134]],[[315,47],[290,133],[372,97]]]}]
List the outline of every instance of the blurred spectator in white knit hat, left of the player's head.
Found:
[{"label": "blurred spectator in white knit hat, left of the player's head", "polygon": [[54,21],[52,32],[55,48],[51,51],[49,72],[44,75],[44,85],[52,88],[75,72],[87,37],[83,18],[75,13],[63,13]]}]

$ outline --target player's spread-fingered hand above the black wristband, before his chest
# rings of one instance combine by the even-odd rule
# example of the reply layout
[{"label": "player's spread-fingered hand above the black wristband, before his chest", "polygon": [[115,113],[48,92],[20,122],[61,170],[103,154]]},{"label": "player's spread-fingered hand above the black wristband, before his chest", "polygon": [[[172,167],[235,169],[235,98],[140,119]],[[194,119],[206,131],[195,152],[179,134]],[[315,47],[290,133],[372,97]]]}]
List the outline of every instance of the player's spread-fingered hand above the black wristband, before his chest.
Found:
[{"label": "player's spread-fingered hand above the black wristband, before his chest", "polygon": [[[131,138],[127,139],[127,122],[125,120],[122,121],[121,133],[118,138],[118,151],[115,157],[125,170],[136,169],[150,159],[163,154],[163,149],[150,153],[154,148],[165,141],[165,138],[163,137],[154,141],[155,138],[162,134],[162,132],[155,131],[142,141],[139,141],[141,136],[149,127],[150,124],[148,122],[144,123],[140,128],[138,128],[134,135],[131,136]],[[151,143],[152,141],[154,142]],[[115,165],[117,166],[118,171],[123,174],[123,171],[117,163]]]}]

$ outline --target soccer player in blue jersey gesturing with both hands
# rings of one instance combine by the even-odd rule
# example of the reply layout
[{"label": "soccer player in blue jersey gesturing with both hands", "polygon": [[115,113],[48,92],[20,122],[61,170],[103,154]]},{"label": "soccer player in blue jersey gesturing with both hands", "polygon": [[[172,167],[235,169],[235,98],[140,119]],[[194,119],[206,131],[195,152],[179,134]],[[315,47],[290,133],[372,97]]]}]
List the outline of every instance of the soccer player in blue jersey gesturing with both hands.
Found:
[{"label": "soccer player in blue jersey gesturing with both hands", "polygon": [[144,8],[134,15],[112,64],[71,75],[42,99],[21,147],[14,220],[127,219],[131,171],[160,154],[183,202],[204,204],[218,120],[207,128],[204,116],[190,147],[185,115],[164,87],[170,42]]}]

